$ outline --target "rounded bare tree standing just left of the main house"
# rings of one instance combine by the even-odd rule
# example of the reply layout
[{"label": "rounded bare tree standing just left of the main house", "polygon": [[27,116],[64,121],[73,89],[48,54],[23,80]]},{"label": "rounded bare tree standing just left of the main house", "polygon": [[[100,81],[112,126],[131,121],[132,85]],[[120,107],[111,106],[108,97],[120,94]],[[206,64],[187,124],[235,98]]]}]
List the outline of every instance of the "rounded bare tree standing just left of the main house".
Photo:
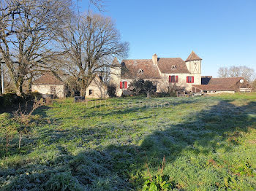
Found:
[{"label": "rounded bare tree standing just left of the main house", "polygon": [[113,67],[113,58],[125,58],[128,43],[120,35],[110,17],[89,14],[70,20],[61,35],[61,45],[66,52],[66,71],[80,82],[81,95],[98,74]]}]

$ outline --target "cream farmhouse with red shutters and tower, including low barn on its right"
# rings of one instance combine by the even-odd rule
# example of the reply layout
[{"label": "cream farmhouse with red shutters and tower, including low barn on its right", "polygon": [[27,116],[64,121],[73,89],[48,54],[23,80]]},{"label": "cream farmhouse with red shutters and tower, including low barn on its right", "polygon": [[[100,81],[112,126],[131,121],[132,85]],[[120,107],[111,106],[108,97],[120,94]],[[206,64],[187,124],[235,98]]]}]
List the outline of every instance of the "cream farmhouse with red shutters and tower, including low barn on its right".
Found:
[{"label": "cream farmhouse with red shutters and tower, including low barn on its right", "polygon": [[201,77],[202,58],[194,51],[184,61],[181,58],[158,58],[124,60],[118,68],[111,69],[110,82],[115,84],[117,95],[129,94],[127,88],[134,79],[150,80],[157,85],[157,93],[165,92],[170,86],[180,91],[193,93],[235,93],[250,91],[249,83],[242,77],[212,78]]}]

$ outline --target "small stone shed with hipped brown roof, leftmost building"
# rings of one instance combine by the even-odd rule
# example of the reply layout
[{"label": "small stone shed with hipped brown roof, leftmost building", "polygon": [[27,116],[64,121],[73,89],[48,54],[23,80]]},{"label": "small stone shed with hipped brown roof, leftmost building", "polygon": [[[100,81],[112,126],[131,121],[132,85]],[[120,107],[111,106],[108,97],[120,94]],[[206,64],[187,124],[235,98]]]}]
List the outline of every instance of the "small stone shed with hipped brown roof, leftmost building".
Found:
[{"label": "small stone shed with hipped brown roof, leftmost building", "polygon": [[45,72],[41,77],[32,82],[32,92],[38,92],[53,97],[65,97],[65,83],[50,72]]}]

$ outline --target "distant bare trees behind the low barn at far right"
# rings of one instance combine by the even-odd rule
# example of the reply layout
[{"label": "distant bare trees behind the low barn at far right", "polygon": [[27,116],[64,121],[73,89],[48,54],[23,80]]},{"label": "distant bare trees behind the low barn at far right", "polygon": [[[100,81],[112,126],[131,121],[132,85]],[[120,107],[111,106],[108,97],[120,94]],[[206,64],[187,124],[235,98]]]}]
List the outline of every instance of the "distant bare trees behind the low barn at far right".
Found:
[{"label": "distant bare trees behind the low barn at far right", "polygon": [[218,74],[219,77],[244,77],[248,82],[255,78],[255,70],[247,66],[220,67]]}]

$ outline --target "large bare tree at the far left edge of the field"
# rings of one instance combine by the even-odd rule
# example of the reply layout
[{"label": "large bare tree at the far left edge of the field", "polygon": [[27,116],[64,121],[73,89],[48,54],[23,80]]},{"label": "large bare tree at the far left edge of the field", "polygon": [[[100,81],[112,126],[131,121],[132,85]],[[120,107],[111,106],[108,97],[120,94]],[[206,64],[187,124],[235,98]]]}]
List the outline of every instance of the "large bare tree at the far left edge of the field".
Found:
[{"label": "large bare tree at the far left edge of the field", "polygon": [[1,0],[0,52],[17,95],[23,95],[23,82],[34,70],[57,53],[53,40],[69,6],[69,0]]}]

